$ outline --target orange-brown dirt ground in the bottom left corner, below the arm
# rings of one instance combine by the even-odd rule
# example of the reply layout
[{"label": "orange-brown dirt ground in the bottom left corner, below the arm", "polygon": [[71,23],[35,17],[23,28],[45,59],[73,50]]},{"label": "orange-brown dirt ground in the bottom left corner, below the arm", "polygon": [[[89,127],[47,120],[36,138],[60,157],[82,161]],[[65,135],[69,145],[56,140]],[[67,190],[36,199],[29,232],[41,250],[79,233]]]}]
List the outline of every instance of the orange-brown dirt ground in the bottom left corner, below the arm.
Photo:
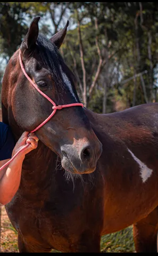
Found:
[{"label": "orange-brown dirt ground in the bottom left corner, below the arm", "polygon": [[7,217],[4,205],[1,207],[1,247],[0,252],[19,252],[17,234]]}]

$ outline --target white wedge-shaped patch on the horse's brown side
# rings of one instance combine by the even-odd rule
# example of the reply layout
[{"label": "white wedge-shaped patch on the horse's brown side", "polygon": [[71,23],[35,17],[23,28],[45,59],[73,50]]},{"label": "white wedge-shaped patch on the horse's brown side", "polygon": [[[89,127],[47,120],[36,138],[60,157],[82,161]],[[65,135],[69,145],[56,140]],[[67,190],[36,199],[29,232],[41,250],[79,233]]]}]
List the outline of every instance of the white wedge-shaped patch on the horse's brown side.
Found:
[{"label": "white wedge-shaped patch on the horse's brown side", "polygon": [[[128,149],[128,148],[127,148]],[[128,149],[129,153],[132,155],[132,157],[135,159],[135,161],[139,164],[140,167],[140,176],[145,182],[149,177],[151,177],[153,170],[149,169],[143,162],[141,162],[135,155]]]}]

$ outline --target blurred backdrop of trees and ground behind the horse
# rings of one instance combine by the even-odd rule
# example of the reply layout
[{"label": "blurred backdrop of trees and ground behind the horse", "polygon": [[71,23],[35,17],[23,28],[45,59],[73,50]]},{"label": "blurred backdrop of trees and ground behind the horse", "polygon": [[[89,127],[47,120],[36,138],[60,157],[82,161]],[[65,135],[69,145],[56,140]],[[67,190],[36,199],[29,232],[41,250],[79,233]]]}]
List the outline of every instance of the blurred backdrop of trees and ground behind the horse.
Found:
[{"label": "blurred backdrop of trees and ground behind the horse", "polygon": [[[40,33],[48,38],[69,20],[60,52],[87,108],[111,113],[156,102],[157,7],[156,2],[1,2],[0,92],[7,62],[40,15]],[[18,252],[17,233],[4,206],[1,224],[1,251]],[[134,252],[132,227],[103,236],[101,251]]]}]

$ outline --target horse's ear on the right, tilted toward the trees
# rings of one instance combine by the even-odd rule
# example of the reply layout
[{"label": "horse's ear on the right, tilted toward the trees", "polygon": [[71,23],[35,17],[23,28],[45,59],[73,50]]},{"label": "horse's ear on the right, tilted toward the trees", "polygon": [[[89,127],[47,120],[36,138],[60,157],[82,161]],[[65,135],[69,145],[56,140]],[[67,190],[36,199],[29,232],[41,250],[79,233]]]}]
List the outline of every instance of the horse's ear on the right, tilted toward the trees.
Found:
[{"label": "horse's ear on the right, tilted toward the trees", "polygon": [[60,46],[62,45],[66,32],[67,32],[67,27],[69,26],[69,20],[67,21],[65,27],[57,32],[54,36],[52,36],[49,40],[51,40],[52,43],[54,43],[57,48],[59,49]]}]

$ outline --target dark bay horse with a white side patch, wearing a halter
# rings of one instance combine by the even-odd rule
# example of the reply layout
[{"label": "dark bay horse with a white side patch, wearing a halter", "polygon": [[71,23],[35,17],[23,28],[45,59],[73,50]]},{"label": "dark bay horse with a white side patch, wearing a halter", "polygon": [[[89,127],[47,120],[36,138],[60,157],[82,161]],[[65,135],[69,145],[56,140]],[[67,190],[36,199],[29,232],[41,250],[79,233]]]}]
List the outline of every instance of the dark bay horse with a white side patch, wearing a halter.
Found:
[{"label": "dark bay horse with a white side patch, wearing a halter", "polygon": [[[6,66],[3,122],[17,141],[52,112],[52,104],[79,103],[76,78],[59,48],[68,23],[50,39],[32,20]],[[20,187],[5,205],[18,232],[19,252],[100,252],[101,236],[134,228],[136,252],[157,251],[158,103],[96,114],[73,106],[56,110],[35,133]]]}]

